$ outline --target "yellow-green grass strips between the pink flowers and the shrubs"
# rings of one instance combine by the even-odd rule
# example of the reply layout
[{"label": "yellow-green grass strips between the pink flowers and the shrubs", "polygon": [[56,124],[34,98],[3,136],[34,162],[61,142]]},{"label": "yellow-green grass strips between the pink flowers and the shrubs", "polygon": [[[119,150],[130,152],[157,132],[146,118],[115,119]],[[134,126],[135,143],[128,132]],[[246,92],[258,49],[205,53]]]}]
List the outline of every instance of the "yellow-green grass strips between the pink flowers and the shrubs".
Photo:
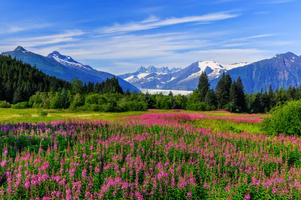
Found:
[{"label": "yellow-green grass strips between the pink flowers and the shrubs", "polygon": [[[68,120],[73,118],[91,118],[91,119],[105,119],[114,120],[120,116],[132,116],[140,115],[149,112],[174,112],[172,110],[157,110],[157,111],[134,111],[134,112],[71,112],[69,110],[48,110],[47,116],[38,116],[38,110],[35,108],[30,109],[12,109],[12,108],[0,108],[0,122],[32,122],[38,123],[40,121],[49,122],[53,120]],[[183,111],[192,112],[192,111]],[[244,114],[229,113],[225,111],[206,111],[202,112],[207,115],[215,116],[242,116]],[[31,116],[30,116],[31,115]],[[261,117],[261,115],[258,115]],[[262,115],[264,116],[264,115]],[[199,119],[193,123],[196,127],[211,127],[215,131],[231,130],[233,132],[247,131],[251,133],[260,133],[260,124],[245,123],[245,122],[231,122],[227,120],[212,120],[212,119]]]}]

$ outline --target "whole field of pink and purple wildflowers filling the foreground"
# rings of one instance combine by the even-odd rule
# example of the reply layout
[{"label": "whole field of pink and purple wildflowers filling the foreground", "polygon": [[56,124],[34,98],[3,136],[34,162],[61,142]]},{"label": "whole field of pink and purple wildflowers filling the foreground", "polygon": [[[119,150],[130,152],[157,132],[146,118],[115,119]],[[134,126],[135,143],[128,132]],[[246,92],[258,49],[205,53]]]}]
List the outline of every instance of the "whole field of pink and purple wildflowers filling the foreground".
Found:
[{"label": "whole field of pink and purple wildflowers filling the foreground", "polygon": [[261,132],[264,117],[151,110],[2,122],[0,199],[300,199],[301,139]]}]

